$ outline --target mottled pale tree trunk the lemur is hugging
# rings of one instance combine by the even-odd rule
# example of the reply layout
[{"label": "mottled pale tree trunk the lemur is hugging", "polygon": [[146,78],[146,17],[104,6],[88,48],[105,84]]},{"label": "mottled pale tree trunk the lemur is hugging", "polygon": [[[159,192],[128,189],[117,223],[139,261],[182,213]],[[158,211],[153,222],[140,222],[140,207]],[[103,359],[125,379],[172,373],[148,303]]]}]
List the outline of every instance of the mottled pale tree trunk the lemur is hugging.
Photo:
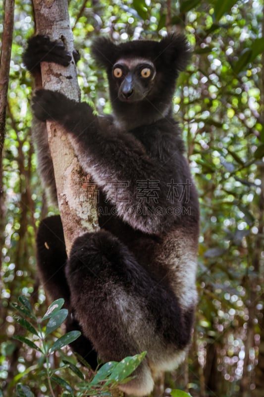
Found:
[{"label": "mottled pale tree trunk the lemur is hugging", "polygon": [[[33,0],[38,34],[47,34],[52,40],[61,39],[68,52],[73,51],[67,0]],[[68,67],[43,62],[42,82],[46,89],[60,91],[70,99],[80,100],[80,90],[74,61]],[[87,199],[83,174],[73,148],[61,126],[47,123],[48,139],[53,158],[58,206],[61,215],[66,250],[69,254],[74,239],[98,228],[95,202]],[[92,187],[95,189],[95,186]],[[93,198],[93,194],[91,197]],[[82,199],[84,198],[85,199]]]}]

